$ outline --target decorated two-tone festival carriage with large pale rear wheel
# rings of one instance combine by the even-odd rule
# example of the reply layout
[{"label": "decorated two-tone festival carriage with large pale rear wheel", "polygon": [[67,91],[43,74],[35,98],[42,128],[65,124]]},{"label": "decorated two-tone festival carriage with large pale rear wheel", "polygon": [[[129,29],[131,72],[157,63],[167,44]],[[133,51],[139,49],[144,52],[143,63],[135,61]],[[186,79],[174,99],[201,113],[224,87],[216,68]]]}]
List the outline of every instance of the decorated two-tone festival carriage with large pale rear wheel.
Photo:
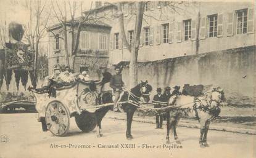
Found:
[{"label": "decorated two-tone festival carriage with large pale rear wheel", "polygon": [[[75,117],[80,130],[90,132],[97,124],[94,112],[113,105],[110,103],[111,92],[99,95],[99,84],[97,81],[76,80],[70,84],[62,83],[42,89],[29,88],[36,98],[39,121],[45,120],[46,128],[52,134],[64,136],[70,127],[70,117]],[[104,100],[106,96],[108,100]],[[103,102],[105,104],[102,106]]]}]

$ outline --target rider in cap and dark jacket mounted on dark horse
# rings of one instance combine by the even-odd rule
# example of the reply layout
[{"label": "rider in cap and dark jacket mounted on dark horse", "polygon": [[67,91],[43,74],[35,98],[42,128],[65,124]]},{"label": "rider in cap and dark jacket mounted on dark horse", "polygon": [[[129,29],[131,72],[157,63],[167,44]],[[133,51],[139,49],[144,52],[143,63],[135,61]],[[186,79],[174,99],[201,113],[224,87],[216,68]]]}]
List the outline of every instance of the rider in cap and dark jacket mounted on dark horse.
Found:
[{"label": "rider in cap and dark jacket mounted on dark horse", "polygon": [[120,98],[121,92],[123,92],[124,82],[122,80],[122,67],[115,66],[115,74],[110,79],[110,87],[114,90],[114,112],[118,111],[117,102]]}]

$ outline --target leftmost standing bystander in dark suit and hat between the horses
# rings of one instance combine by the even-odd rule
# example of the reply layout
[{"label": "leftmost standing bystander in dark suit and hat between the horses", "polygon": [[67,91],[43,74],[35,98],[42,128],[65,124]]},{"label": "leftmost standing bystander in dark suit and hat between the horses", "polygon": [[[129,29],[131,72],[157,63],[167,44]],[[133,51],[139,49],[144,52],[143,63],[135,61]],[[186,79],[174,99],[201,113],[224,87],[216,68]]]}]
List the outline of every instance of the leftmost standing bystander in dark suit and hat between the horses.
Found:
[{"label": "leftmost standing bystander in dark suit and hat between the horses", "polygon": [[[153,101],[152,103],[154,103],[154,108],[161,108],[161,105],[159,103],[159,101],[163,101],[163,96],[162,96],[162,89],[161,88],[157,88],[157,94],[154,95]],[[160,120],[160,122],[159,122]],[[157,127],[155,128],[162,128],[163,126],[163,115],[160,113],[157,113],[155,115],[155,124],[157,125]]]}]

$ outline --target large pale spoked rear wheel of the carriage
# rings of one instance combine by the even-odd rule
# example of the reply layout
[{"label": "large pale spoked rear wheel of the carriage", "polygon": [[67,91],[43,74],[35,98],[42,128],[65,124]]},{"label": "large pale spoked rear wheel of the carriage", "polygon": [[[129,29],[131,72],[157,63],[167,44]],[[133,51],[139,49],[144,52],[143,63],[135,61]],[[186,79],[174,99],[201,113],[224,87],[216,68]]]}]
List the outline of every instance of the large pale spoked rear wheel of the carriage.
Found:
[{"label": "large pale spoked rear wheel of the carriage", "polygon": [[60,101],[52,101],[46,107],[46,125],[49,131],[56,136],[67,134],[70,125],[70,115]]}]

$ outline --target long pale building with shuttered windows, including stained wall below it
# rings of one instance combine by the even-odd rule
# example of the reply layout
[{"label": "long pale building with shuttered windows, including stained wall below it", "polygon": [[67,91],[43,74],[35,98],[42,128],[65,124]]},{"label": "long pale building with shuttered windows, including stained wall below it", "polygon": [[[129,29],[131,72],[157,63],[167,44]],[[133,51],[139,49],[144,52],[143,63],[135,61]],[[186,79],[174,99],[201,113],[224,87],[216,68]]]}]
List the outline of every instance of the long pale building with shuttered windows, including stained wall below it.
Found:
[{"label": "long pale building with shuttered windows, including stained wall below it", "polygon": [[[138,79],[156,87],[183,84],[220,85],[228,93],[256,100],[254,2],[151,1],[144,7],[138,53]],[[126,39],[134,36],[136,6],[122,6]],[[109,64],[129,61],[122,44],[117,7],[112,4],[86,11],[110,28],[106,44]],[[96,30],[96,31],[102,31]],[[97,39],[89,39],[99,43]],[[128,70],[123,71],[128,83]],[[244,78],[243,76],[247,76]]]}]

